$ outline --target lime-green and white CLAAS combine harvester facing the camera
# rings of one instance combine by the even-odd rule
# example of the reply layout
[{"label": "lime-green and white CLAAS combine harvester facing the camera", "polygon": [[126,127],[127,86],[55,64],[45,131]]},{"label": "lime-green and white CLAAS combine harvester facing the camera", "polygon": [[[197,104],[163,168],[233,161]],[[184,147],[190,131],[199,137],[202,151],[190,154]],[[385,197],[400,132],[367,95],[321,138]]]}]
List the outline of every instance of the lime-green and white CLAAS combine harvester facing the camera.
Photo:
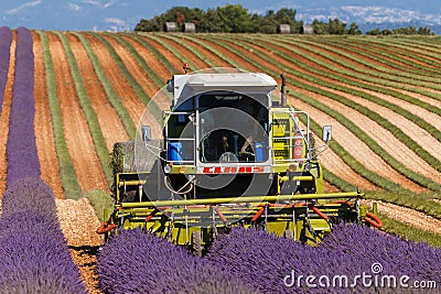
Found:
[{"label": "lime-green and white CLAAS combine harvester facing the camera", "polygon": [[[341,220],[380,227],[363,194],[324,193],[308,113],[286,97],[281,75],[174,75],[166,89],[162,139],[115,144],[115,210],[97,230],[143,227],[202,254],[234,226],[257,226],[305,243],[320,242]],[[374,209],[375,210],[375,209]]]}]

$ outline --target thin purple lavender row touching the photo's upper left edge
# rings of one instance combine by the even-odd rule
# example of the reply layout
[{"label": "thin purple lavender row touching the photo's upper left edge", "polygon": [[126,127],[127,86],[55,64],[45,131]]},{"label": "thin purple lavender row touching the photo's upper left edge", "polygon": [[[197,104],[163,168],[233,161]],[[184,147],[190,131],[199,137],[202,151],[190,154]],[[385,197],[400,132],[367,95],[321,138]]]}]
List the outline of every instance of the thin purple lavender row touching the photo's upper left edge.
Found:
[{"label": "thin purple lavender row touching the photo's upper left edge", "polygon": [[4,100],[4,89],[8,80],[10,47],[12,43],[12,31],[8,26],[0,28],[0,115]]}]

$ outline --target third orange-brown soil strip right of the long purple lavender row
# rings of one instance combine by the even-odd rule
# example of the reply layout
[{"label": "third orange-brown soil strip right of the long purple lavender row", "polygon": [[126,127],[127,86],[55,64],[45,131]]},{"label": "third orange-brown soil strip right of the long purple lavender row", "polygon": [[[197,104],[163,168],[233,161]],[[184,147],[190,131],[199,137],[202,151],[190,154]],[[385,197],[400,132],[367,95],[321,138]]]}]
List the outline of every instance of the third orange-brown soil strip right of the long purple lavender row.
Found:
[{"label": "third orange-brown soil strip right of the long purple lavender row", "polygon": [[66,36],[82,73],[87,97],[98,118],[99,128],[101,129],[107,149],[111,151],[116,142],[128,141],[129,137],[127,135],[120,118],[107,99],[106,91],[95,74],[94,65],[83,43],[74,34],[66,34]]}]

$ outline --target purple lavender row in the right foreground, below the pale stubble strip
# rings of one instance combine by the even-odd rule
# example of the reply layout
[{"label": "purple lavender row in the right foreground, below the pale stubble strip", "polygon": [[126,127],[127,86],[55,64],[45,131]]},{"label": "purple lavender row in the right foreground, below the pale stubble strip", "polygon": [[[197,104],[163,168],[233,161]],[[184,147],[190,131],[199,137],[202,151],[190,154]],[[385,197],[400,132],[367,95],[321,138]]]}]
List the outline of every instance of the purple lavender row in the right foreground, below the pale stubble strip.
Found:
[{"label": "purple lavender row in the right foreground, below the pale stubble strip", "polygon": [[[383,274],[408,275],[441,285],[441,249],[406,240],[366,226],[340,224],[320,247],[349,254],[365,264],[381,264]],[[363,249],[363,250],[361,250]]]}]

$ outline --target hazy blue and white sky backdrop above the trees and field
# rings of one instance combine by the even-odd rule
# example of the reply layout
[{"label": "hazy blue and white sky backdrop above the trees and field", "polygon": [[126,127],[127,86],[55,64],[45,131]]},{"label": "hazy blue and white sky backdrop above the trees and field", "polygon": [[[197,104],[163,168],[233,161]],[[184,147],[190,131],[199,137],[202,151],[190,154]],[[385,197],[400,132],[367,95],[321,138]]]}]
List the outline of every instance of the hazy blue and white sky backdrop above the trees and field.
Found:
[{"label": "hazy blue and white sky backdrop above the trees and field", "polygon": [[[0,0],[0,25],[12,29],[60,31],[131,31],[141,19],[151,19],[176,6],[224,7],[228,0]],[[385,22],[419,20],[441,24],[437,0],[244,0],[249,12],[291,8],[297,19],[312,22],[338,18],[346,22]]]}]

